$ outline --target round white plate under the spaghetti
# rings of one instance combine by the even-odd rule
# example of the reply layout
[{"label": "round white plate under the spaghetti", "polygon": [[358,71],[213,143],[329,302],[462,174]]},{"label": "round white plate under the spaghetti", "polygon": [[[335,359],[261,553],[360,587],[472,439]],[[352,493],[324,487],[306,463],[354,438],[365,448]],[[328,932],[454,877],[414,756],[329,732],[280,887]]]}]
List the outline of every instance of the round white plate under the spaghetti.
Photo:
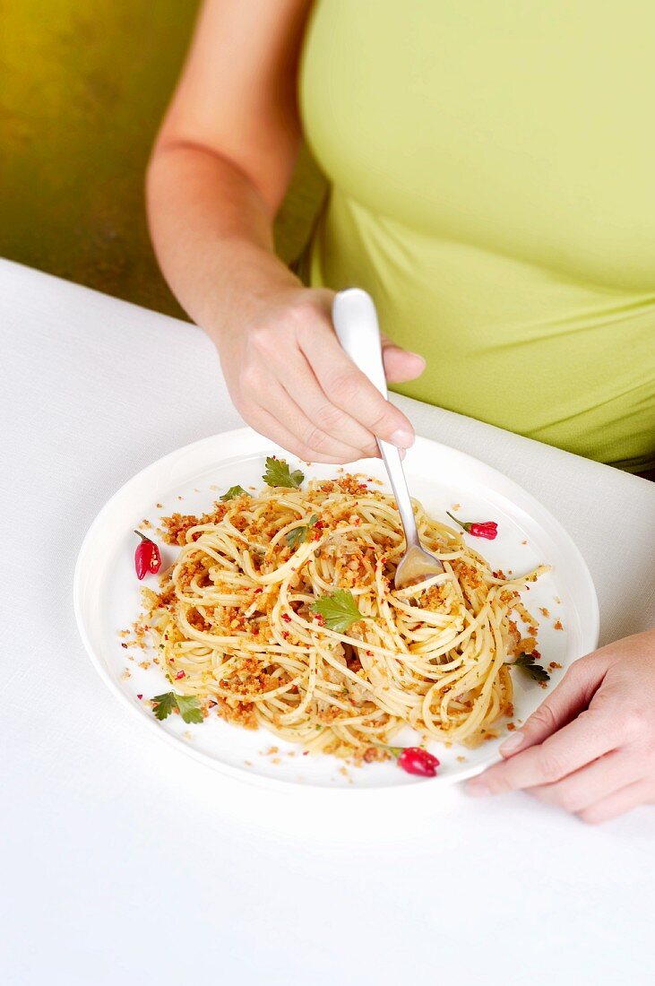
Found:
[{"label": "round white plate under the spaghetti", "polygon": [[[261,487],[264,459],[286,453],[250,429],[203,439],[149,465],[130,479],[102,508],[90,528],[75,571],[75,613],[85,647],[101,678],[133,715],[186,753],[231,776],[265,785],[308,785],[346,790],[444,785],[479,773],[498,759],[503,739],[488,740],[476,750],[434,743],[441,761],[438,776],[429,783],[399,770],[395,763],[374,763],[344,768],[330,756],[303,756],[290,743],[263,730],[249,732],[229,726],[218,717],[199,725],[186,725],[179,716],[158,722],[145,699],[168,691],[170,684],[156,665],[139,667],[135,650],[121,647],[118,632],[127,628],[139,612],[142,584],[134,573],[133,528],[144,519],[157,527],[161,516],[179,511],[196,514],[209,509],[229,486]],[[336,466],[301,465],[305,475],[330,477]],[[446,446],[418,438],[405,459],[412,494],[428,514],[447,522],[445,511],[459,504],[463,519],[496,521],[493,541],[470,538],[490,561],[505,573],[528,572],[540,562],[553,570],[523,594],[528,608],[540,620],[539,649],[543,664],[557,662],[553,688],[572,661],[594,650],[598,642],[598,600],[591,576],[580,552],[555,518],[532,496],[475,458]],[[349,471],[385,479],[377,459],[348,466]],[[163,505],[163,509],[157,504]],[[173,557],[163,549],[164,568]],[[155,578],[145,585],[158,588]],[[560,601],[557,602],[556,600]],[[549,610],[542,617],[539,607]],[[561,621],[563,629],[556,630]],[[128,676],[129,675],[129,676]],[[547,694],[536,682],[513,672],[516,721],[524,721]],[[144,700],[137,698],[138,694]],[[504,734],[504,727],[501,727]],[[402,738],[401,738],[402,741]],[[412,734],[404,741],[412,742]],[[271,747],[278,751],[271,753]],[[464,758],[464,759],[462,759]]]}]

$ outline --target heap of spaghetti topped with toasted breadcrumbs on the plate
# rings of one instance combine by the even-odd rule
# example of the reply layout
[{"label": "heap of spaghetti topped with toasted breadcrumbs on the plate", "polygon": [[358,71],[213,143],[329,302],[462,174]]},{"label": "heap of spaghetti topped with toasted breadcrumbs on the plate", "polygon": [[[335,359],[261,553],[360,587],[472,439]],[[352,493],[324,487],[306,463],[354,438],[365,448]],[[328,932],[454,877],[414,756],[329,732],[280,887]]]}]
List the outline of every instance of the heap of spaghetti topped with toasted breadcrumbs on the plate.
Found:
[{"label": "heap of spaghetti topped with toasted breadcrumbs on the plate", "polygon": [[517,628],[536,633],[519,592],[543,569],[492,572],[415,501],[444,572],[397,591],[398,510],[359,476],[229,494],[203,517],[164,518],[181,550],[137,624],[203,715],[365,760],[405,726],[477,745],[511,715],[508,663],[536,645]]}]

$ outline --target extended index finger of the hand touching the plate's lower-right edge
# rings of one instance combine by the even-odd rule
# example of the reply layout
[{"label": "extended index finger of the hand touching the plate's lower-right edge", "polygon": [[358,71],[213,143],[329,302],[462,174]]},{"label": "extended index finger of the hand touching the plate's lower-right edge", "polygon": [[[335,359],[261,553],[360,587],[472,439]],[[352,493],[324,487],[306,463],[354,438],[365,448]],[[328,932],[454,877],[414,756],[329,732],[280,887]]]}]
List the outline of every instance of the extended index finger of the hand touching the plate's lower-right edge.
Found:
[{"label": "extended index finger of the hand touching the plate's lower-right edge", "polygon": [[585,766],[620,742],[613,721],[600,712],[583,712],[542,743],[496,763],[469,781],[469,794],[497,795],[505,791],[554,784]]}]

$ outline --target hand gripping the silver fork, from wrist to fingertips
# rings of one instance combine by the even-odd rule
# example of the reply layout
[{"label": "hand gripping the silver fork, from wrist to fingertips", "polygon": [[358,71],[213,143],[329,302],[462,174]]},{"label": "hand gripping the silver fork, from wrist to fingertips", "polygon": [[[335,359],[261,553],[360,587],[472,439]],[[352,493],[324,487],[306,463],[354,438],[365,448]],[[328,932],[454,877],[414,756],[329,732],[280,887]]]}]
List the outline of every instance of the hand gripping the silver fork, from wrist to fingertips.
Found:
[{"label": "hand gripping the silver fork, from wrist to fingertips", "polygon": [[[256,431],[306,461],[377,456],[375,438],[407,449],[412,425],[341,348],[333,298],[284,284],[242,300],[241,317],[215,336],[231,398]],[[382,347],[390,383],[423,373],[423,357],[384,338]]]}]

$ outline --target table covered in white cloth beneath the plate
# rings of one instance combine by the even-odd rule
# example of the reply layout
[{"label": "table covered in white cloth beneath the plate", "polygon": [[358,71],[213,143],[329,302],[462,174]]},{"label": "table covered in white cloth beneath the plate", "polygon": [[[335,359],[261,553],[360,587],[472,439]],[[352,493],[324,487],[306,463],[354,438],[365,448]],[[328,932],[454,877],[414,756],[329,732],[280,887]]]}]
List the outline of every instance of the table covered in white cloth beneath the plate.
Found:
[{"label": "table covered in white cloth beneath the plate", "polygon": [[[134,472],[239,417],[198,328],[6,261],[0,334],[4,984],[653,981],[655,810],[588,827],[455,788],[335,816],[140,728],[78,639],[80,542]],[[655,484],[398,402],[568,528],[603,641],[652,625]]]}]

